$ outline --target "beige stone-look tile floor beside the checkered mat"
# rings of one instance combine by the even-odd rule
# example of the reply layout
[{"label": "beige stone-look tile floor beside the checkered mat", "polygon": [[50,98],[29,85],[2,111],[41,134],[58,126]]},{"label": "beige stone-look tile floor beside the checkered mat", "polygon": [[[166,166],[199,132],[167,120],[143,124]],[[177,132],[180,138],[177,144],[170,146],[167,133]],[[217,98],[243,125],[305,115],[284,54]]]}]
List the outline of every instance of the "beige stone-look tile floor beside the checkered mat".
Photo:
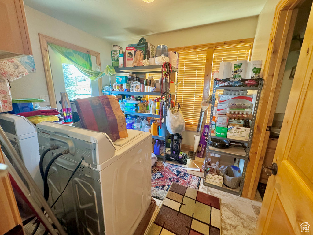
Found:
[{"label": "beige stone-look tile floor beside the checkered mat", "polygon": [[[196,160],[204,161],[204,158],[196,158]],[[167,161],[167,163],[183,167],[188,167],[189,162],[190,160],[188,160],[187,165],[181,165],[175,161]],[[250,200],[205,186],[203,185],[203,179],[201,179],[199,191],[221,199],[221,235],[252,235],[255,233],[256,223],[262,205],[262,199],[258,191],[255,199]],[[162,200],[156,198],[155,200],[157,206],[162,205]]]}]

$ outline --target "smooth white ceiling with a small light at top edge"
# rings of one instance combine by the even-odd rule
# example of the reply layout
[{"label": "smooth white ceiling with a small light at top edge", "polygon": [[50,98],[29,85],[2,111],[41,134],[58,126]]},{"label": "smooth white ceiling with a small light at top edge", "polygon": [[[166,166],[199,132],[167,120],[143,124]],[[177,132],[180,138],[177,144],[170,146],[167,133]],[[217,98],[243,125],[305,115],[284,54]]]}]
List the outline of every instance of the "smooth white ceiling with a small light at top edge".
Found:
[{"label": "smooth white ceiling with a small light at top edge", "polygon": [[[259,15],[267,0],[24,0],[112,42]],[[239,30],[240,25],[238,25]]]}]

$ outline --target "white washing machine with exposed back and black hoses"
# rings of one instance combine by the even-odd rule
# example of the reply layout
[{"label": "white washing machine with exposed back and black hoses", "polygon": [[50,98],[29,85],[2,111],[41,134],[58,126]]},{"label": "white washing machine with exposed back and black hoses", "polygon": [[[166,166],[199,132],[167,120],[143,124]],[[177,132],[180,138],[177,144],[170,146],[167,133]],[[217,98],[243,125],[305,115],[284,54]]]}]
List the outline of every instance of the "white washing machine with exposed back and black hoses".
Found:
[{"label": "white washing machine with exposed back and black hoses", "polygon": [[[53,207],[69,234],[131,235],[151,203],[151,133],[127,130],[114,143],[105,133],[68,125],[37,124],[39,151],[69,148],[49,171],[50,205],[84,157]],[[44,166],[52,158],[44,161]],[[45,168],[45,167],[44,167]]]}]

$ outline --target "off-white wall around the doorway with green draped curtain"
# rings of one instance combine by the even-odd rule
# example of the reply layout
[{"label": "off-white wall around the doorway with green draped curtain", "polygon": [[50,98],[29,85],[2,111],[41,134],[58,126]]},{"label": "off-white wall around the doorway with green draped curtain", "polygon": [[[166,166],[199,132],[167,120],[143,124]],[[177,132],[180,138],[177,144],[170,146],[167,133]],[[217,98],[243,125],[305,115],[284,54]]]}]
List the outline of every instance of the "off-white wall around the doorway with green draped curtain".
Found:
[{"label": "off-white wall around the doorway with green draped curtain", "polygon": [[[25,11],[36,73],[29,73],[29,75],[11,83],[13,98],[39,98],[38,95],[48,95],[38,33],[100,52],[102,70],[106,65],[111,65],[111,43],[92,36],[28,6],[25,6]],[[103,80],[108,79],[109,78],[105,76]],[[104,84],[106,82],[107,81],[103,81]]]}]

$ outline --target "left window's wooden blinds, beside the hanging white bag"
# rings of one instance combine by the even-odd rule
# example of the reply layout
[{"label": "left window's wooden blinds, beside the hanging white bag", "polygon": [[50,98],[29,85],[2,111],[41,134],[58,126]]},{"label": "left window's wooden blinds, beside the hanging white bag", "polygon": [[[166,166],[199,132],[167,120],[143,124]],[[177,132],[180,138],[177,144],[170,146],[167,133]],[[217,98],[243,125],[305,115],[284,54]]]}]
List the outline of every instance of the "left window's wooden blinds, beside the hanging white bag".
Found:
[{"label": "left window's wooden blinds, beside the hanging white bag", "polygon": [[186,125],[197,126],[203,94],[206,48],[178,51],[177,102]]}]

